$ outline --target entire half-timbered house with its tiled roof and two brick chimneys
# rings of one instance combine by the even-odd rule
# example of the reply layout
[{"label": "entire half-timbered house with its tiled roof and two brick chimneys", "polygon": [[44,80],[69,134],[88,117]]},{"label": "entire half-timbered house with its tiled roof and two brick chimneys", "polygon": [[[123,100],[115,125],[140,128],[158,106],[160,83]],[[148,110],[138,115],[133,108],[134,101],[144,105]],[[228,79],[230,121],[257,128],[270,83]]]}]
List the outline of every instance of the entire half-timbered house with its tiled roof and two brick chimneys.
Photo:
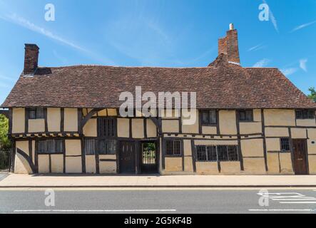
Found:
[{"label": "entire half-timbered house with its tiled roof and two brick chimneys", "polygon": [[[39,67],[26,44],[9,108],[16,173],[316,174],[316,105],[277,68],[240,66],[237,31],[205,68]],[[119,95],[196,92],[197,120],[123,118]],[[192,111],[192,110],[191,110]],[[179,115],[175,115],[175,113]]]}]

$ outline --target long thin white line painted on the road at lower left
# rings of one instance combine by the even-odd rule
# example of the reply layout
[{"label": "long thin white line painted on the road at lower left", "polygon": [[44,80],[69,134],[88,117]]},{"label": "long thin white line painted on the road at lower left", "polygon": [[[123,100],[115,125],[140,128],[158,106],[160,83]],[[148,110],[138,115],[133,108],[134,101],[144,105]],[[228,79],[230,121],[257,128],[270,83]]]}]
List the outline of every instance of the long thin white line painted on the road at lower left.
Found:
[{"label": "long thin white line painted on the road at lower left", "polygon": [[14,212],[176,212],[176,209],[16,209]]}]

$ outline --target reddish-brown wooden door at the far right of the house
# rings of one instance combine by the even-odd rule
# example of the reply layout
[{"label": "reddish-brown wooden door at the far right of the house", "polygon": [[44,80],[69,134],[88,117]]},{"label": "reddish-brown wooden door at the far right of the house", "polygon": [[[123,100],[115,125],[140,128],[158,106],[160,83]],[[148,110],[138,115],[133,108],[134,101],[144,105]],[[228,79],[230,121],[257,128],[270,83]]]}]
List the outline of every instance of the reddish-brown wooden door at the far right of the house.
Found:
[{"label": "reddish-brown wooden door at the far right of the house", "polygon": [[306,140],[292,140],[295,175],[307,175],[307,143]]}]

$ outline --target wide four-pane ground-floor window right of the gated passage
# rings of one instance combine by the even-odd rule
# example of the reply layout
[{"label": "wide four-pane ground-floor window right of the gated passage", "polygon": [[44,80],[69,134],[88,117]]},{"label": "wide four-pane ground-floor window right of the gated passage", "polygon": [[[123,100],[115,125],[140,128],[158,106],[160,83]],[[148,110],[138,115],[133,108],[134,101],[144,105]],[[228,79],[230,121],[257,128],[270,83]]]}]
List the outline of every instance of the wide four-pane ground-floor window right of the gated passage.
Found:
[{"label": "wide four-pane ground-floor window right of the gated passage", "polygon": [[238,161],[238,150],[235,145],[198,145],[196,147],[198,162],[229,162]]}]

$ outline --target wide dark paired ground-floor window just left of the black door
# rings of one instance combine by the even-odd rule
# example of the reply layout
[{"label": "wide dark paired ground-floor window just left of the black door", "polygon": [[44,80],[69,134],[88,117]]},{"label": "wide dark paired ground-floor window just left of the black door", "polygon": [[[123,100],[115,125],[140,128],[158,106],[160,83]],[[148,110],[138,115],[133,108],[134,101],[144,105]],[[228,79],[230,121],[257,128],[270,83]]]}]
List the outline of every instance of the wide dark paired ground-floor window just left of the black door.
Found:
[{"label": "wide dark paired ground-floor window just left of the black door", "polygon": [[100,155],[116,154],[116,140],[86,139],[84,146],[86,155],[95,155],[96,151]]}]

